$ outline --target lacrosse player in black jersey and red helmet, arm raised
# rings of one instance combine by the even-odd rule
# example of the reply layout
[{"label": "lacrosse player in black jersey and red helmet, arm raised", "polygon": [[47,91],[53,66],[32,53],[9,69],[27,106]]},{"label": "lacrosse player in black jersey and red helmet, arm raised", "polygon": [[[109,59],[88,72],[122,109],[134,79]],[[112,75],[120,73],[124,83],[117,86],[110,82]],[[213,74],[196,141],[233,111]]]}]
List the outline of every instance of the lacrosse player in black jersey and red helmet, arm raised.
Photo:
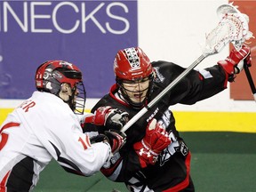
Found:
[{"label": "lacrosse player in black jersey and red helmet, arm raised", "polygon": [[[232,50],[226,60],[211,68],[191,69],[126,130],[123,148],[101,172],[109,180],[124,182],[130,191],[195,191],[189,174],[191,153],[176,130],[169,107],[177,103],[192,105],[225,90],[242,69],[240,61],[247,60],[251,66],[250,53],[250,48],[243,45],[239,52]],[[92,112],[109,106],[126,111],[131,119],[184,70],[172,62],[150,62],[139,47],[120,50],[114,61],[116,84]],[[100,132],[104,129],[106,126],[99,127]]]}]

